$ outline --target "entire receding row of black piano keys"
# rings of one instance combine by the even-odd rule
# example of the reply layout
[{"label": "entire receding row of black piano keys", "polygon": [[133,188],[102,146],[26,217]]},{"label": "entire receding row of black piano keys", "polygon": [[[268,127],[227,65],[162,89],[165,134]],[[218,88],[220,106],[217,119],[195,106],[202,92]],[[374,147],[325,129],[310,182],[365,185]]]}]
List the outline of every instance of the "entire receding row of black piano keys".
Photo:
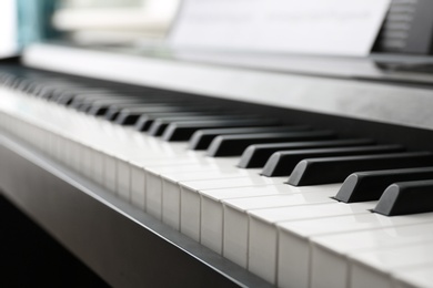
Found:
[{"label": "entire receding row of black piano keys", "polygon": [[207,150],[210,156],[242,155],[239,167],[263,167],[264,176],[290,175],[291,185],[344,181],[335,199],[353,203],[382,196],[376,207],[381,214],[433,210],[431,152],[405,152],[401,145],[376,145],[372,140],[339,140],[332,131],[283,126],[274,119],[185,102],[153,89],[105,83],[101,89],[92,82],[26,72],[2,73],[0,83],[120,125],[134,125],[165,141],[189,140],[191,150]]}]

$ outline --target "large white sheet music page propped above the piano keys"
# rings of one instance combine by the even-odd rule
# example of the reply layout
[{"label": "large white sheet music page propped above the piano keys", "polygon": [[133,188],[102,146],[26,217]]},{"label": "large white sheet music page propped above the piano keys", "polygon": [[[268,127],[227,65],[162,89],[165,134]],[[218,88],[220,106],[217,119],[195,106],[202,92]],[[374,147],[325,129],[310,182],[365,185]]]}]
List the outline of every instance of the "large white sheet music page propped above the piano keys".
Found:
[{"label": "large white sheet music page propped above the piano keys", "polygon": [[363,56],[390,0],[184,0],[180,48]]}]

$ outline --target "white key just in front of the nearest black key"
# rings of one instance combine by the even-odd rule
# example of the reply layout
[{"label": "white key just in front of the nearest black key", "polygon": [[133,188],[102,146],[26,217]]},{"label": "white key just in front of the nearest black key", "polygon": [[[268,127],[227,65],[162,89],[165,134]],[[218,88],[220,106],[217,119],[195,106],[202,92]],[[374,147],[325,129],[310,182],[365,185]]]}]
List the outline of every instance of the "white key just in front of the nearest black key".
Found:
[{"label": "white key just in front of the nearest black key", "polygon": [[[386,217],[380,214],[358,214],[350,216],[325,217],[299,222],[281,222],[279,228],[278,286],[309,287],[310,267],[318,258],[311,253],[311,239],[318,236],[352,233],[360,230],[391,228],[397,226],[432,223],[433,213],[409,216]],[[320,258],[319,258],[320,259]],[[311,279],[311,287],[346,287],[348,279],[328,277],[332,275],[332,265],[319,266],[316,280]],[[335,266],[335,269],[340,267]]]}]

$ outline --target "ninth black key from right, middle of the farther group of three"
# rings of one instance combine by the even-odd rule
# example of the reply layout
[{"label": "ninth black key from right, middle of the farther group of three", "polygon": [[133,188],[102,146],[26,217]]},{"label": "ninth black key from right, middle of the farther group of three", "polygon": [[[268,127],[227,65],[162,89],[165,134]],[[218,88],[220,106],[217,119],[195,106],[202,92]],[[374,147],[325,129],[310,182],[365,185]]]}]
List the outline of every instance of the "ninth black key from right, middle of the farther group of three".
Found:
[{"label": "ninth black key from right, middle of the farther group of three", "polygon": [[233,115],[205,115],[205,116],[180,116],[180,117],[161,117],[153,121],[152,125],[150,126],[148,133],[152,136],[161,136],[165,128],[171,124],[175,122],[191,122],[191,121],[209,121],[209,120],[240,120],[240,116],[233,116]]}]

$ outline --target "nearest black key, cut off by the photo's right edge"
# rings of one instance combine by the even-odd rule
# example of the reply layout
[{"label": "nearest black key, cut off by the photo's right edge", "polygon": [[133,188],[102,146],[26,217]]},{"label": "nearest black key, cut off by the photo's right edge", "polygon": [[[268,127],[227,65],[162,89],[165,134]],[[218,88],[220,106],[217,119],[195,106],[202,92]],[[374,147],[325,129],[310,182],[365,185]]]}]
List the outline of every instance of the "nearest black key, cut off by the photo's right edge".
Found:
[{"label": "nearest black key, cut off by the photo's right edge", "polygon": [[433,212],[433,179],[392,184],[374,212],[386,216]]}]

